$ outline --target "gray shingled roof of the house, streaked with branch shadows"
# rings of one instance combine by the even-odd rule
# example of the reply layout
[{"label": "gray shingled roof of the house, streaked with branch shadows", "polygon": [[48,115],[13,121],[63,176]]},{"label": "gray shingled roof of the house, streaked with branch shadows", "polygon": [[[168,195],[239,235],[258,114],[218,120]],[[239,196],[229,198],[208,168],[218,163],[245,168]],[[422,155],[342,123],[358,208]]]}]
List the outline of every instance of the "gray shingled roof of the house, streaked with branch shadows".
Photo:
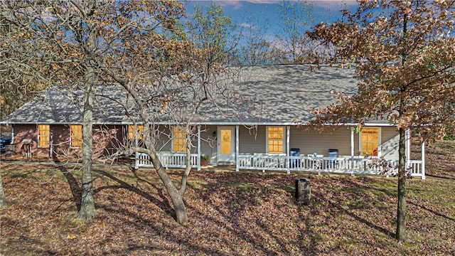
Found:
[{"label": "gray shingled roof of the house, streaked with branch shadows", "polygon": [[[354,70],[321,66],[309,70],[309,65],[260,65],[243,67],[236,80],[225,80],[238,92],[235,100],[215,95],[213,102],[199,111],[197,122],[205,124],[291,124],[313,118],[309,110],[328,106],[337,92],[355,93],[357,80]],[[113,100],[124,100],[126,92],[118,86],[98,86],[106,97],[95,100],[94,122],[97,124],[127,124],[124,110]],[[70,92],[51,87],[31,102],[2,120],[2,124],[80,124],[82,122],[82,91]],[[161,118],[166,122],[166,117]]]}]

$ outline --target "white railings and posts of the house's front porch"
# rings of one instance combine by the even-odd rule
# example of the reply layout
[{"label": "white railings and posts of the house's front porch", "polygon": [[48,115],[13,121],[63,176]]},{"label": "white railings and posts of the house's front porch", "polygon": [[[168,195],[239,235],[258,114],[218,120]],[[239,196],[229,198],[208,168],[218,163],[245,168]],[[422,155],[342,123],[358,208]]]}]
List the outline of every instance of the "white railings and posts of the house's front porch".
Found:
[{"label": "white railings and posts of the house's front porch", "polygon": [[[285,153],[283,154],[270,154],[264,153],[263,151],[257,150],[256,153],[241,152],[240,151],[240,138],[245,137],[245,134],[240,135],[240,126],[232,126],[232,136],[230,139],[232,143],[232,160],[231,162],[224,161],[223,158],[218,158],[218,155],[222,154],[223,150],[220,150],[220,129],[218,128],[218,150],[215,150],[212,161],[212,165],[232,165],[235,166],[235,171],[240,170],[258,170],[258,171],[286,171],[288,174],[291,171],[306,171],[321,173],[336,173],[336,174],[370,174],[370,175],[385,175],[394,176],[397,174],[397,168],[393,167],[385,171],[383,167],[378,166],[377,161],[380,160],[379,156],[363,157],[355,155],[355,130],[354,127],[350,127],[350,156],[324,156],[323,154],[304,154],[296,155],[291,148],[291,126],[286,126],[285,135]],[[201,144],[200,125],[198,125],[197,134],[197,147],[196,152],[191,154],[191,166],[193,169],[200,170],[200,156],[203,155],[203,145]],[[204,134],[212,134],[211,131],[203,132]],[[213,133],[215,134],[215,132]],[[411,176],[425,178],[425,164],[424,164],[424,151],[425,147],[422,144],[422,159],[410,160],[410,132],[407,132],[407,149],[406,149],[406,166]],[[336,145],[335,145],[336,147]],[[207,151],[207,149],[205,149]],[[380,146],[381,151],[381,146]],[[161,163],[166,168],[184,168],[186,167],[186,153],[185,152],[171,152],[161,151],[158,153]],[[397,166],[397,159],[384,159],[390,166]],[[151,167],[149,157],[145,154],[137,154],[135,167]]]}]

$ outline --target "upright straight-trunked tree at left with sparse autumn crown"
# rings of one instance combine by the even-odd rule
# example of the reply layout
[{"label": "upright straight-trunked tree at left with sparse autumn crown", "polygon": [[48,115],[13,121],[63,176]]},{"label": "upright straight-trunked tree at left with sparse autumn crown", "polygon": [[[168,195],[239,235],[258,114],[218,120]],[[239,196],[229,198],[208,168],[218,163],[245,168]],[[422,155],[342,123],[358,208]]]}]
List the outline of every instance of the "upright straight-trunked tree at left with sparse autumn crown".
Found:
[{"label": "upright straight-trunked tree at left with sparse autumn crown", "polygon": [[[36,71],[34,77],[49,84],[67,87],[82,85],[85,91],[82,133],[84,167],[79,218],[90,220],[95,216],[91,164],[93,85],[100,81],[100,75],[119,74],[114,71],[116,69],[128,70],[122,79],[129,80],[134,72],[148,72],[161,65],[154,57],[164,56],[164,50],[171,51],[173,44],[159,36],[158,32],[173,30],[176,19],[182,14],[181,4],[174,1],[2,2],[1,16],[22,31],[14,35],[19,38],[16,42],[22,43],[21,47],[27,46],[28,52],[39,60],[29,61],[26,55],[19,55],[16,63],[32,66]],[[12,36],[9,35],[10,38]],[[132,48],[132,42],[136,40],[146,42],[147,48]],[[142,60],[142,66],[133,69],[130,65],[133,59]],[[146,63],[153,65],[144,67]]]}]

